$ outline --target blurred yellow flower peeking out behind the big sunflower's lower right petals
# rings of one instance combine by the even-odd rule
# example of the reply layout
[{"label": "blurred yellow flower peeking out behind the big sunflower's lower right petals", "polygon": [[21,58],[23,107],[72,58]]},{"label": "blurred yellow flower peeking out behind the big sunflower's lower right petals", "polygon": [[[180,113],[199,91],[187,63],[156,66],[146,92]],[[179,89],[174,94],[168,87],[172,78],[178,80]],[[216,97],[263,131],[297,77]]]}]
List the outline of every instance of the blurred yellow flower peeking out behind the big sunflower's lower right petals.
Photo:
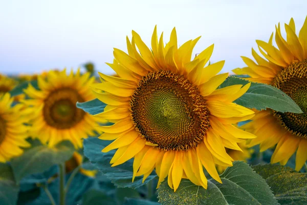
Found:
[{"label": "blurred yellow flower peeking out behind the big sunflower's lower right petals", "polygon": [[[233,159],[233,160],[239,160],[247,162],[249,158],[251,158],[253,150],[249,149],[245,142],[238,143],[238,146],[241,150],[232,150],[232,149],[226,149],[227,154]],[[227,167],[217,165],[216,169],[219,173],[223,173],[226,170]]]}]

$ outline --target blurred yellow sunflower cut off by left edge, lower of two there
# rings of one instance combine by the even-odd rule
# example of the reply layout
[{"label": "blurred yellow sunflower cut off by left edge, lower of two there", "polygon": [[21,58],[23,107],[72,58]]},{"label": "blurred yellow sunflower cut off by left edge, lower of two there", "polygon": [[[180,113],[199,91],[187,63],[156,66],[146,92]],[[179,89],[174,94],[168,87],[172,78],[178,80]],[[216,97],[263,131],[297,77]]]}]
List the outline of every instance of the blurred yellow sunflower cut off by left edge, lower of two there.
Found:
[{"label": "blurred yellow sunflower cut off by left edge, lower of two there", "polygon": [[13,98],[9,93],[0,95],[0,162],[9,161],[23,153],[20,147],[29,147],[26,141],[27,122],[22,106],[11,107]]}]

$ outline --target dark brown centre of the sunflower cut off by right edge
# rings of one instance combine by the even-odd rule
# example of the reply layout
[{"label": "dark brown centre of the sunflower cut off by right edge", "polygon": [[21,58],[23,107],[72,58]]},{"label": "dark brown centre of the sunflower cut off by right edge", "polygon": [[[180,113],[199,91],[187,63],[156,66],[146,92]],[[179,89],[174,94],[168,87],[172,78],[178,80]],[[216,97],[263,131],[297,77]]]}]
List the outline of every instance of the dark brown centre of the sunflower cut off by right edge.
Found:
[{"label": "dark brown centre of the sunflower cut off by right edge", "polygon": [[307,59],[294,63],[274,78],[273,86],[289,95],[303,113],[274,112],[281,125],[296,136],[307,138]]}]

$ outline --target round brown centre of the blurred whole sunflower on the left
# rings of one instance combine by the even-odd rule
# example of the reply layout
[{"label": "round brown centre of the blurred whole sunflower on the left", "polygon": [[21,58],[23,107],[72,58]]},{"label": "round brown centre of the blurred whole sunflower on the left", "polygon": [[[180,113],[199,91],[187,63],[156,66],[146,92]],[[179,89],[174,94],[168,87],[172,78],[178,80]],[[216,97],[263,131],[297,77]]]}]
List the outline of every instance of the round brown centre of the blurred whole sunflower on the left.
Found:
[{"label": "round brown centre of the blurred whole sunflower on the left", "polygon": [[76,90],[58,89],[50,93],[45,100],[43,116],[48,125],[56,129],[74,127],[84,117],[84,111],[77,109],[76,103],[84,102]]}]

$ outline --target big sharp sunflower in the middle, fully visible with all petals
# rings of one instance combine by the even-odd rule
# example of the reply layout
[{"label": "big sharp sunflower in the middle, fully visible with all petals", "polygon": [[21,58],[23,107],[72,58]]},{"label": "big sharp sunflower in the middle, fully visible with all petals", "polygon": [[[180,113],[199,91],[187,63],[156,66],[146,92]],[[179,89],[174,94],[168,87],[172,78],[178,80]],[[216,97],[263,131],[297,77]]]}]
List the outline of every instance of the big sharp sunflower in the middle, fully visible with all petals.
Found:
[{"label": "big sharp sunflower in the middle, fully visible with all petals", "polygon": [[191,61],[200,37],[178,48],[175,29],[164,45],[155,28],[150,50],[132,34],[128,54],[114,49],[114,63],[108,64],[120,77],[100,73],[103,82],[95,86],[103,91],[97,98],[107,104],[96,116],[116,122],[100,127],[100,139],[115,139],[102,152],[117,149],[112,166],[134,157],[133,179],[144,175],[145,180],[156,168],[158,186],[168,175],[174,191],[182,178],[207,188],[203,166],[221,182],[215,164],[229,167],[233,160],[225,147],[239,149],[237,142],[244,141],[239,138],[254,137],[232,125],[254,114],[232,103],[250,84],[216,90],[228,73],[216,75],[224,61],[205,67],[213,45]]}]

